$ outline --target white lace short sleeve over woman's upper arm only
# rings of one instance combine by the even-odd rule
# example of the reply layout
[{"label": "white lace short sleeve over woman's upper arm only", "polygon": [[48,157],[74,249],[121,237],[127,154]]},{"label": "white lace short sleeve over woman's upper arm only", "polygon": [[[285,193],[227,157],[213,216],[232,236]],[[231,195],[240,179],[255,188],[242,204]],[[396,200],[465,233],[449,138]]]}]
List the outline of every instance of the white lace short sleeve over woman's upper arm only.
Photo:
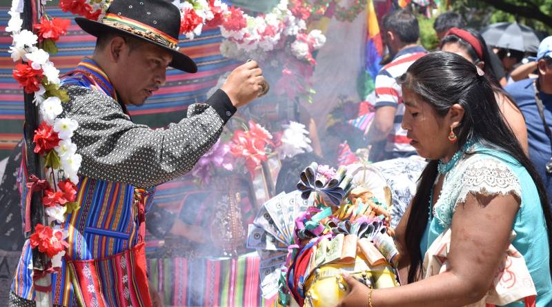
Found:
[{"label": "white lace short sleeve over woman's upper arm only", "polygon": [[521,186],[517,176],[505,162],[497,159],[480,159],[469,165],[462,174],[462,188],[456,204],[466,202],[469,194],[509,195],[521,199]]}]

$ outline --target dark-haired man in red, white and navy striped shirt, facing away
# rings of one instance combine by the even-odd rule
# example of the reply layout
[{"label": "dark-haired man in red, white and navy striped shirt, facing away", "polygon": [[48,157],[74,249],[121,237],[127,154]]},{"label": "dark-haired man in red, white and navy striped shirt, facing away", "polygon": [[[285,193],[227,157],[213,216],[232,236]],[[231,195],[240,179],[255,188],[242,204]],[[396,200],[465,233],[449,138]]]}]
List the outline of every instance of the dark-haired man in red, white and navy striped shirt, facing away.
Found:
[{"label": "dark-haired man in red, white and navy striped shirt, facing away", "polygon": [[402,91],[395,78],[400,77],[414,61],[426,55],[417,45],[420,27],[416,17],[406,10],[395,10],[383,19],[383,41],[391,57],[375,78],[375,117],[366,139],[371,145],[386,141],[384,159],[415,155],[406,131],[401,128],[404,115]]}]

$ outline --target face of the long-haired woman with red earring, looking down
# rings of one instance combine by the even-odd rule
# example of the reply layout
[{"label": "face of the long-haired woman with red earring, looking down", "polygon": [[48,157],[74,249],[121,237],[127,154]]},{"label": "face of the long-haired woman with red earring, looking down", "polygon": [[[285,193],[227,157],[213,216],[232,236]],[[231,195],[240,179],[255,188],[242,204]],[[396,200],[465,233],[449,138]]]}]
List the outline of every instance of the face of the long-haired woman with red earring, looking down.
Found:
[{"label": "face of the long-haired woman with red earring, looking down", "polygon": [[455,152],[457,145],[448,139],[451,132],[449,116],[438,116],[429,103],[404,86],[402,97],[405,106],[402,128],[418,155],[434,160]]}]

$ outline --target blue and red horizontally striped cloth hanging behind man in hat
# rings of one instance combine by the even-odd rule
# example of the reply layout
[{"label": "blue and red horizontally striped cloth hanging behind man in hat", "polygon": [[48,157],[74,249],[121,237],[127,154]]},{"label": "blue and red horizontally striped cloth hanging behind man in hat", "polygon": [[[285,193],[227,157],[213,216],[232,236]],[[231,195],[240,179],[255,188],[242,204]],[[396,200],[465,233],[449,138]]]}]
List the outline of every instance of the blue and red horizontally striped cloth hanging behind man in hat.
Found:
[{"label": "blue and red horizontally striped cloth hanging behind man in hat", "polygon": [[[12,77],[14,62],[7,52],[12,43],[10,34],[4,31],[10,17],[8,10],[7,6],[0,6],[0,159],[7,157],[21,140],[24,117],[23,90]],[[51,17],[71,19],[67,34],[57,41],[59,52],[52,57],[56,68],[63,74],[74,69],[83,57],[92,55],[95,37],[83,32],[73,20],[75,16],[61,12],[55,4],[49,4],[46,10]],[[164,127],[184,117],[191,103],[206,100],[206,92],[215,86],[219,75],[237,66],[235,61],[220,55],[221,40],[220,31],[213,28],[204,29],[193,41],[181,39],[181,52],[194,59],[198,72],[186,74],[168,70],[166,85],[155,96],[140,108],[128,108],[132,119],[154,128]]]}]

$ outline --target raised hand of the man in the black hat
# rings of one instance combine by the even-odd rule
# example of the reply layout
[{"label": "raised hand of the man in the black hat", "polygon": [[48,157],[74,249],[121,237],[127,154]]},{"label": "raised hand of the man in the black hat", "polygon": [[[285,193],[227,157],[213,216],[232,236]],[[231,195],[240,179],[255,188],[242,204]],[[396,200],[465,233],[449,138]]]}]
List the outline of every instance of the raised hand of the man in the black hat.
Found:
[{"label": "raised hand of the man in the black hat", "polygon": [[239,108],[257,98],[262,92],[265,82],[263,72],[257,62],[248,61],[230,72],[221,90],[224,90],[232,104]]}]

